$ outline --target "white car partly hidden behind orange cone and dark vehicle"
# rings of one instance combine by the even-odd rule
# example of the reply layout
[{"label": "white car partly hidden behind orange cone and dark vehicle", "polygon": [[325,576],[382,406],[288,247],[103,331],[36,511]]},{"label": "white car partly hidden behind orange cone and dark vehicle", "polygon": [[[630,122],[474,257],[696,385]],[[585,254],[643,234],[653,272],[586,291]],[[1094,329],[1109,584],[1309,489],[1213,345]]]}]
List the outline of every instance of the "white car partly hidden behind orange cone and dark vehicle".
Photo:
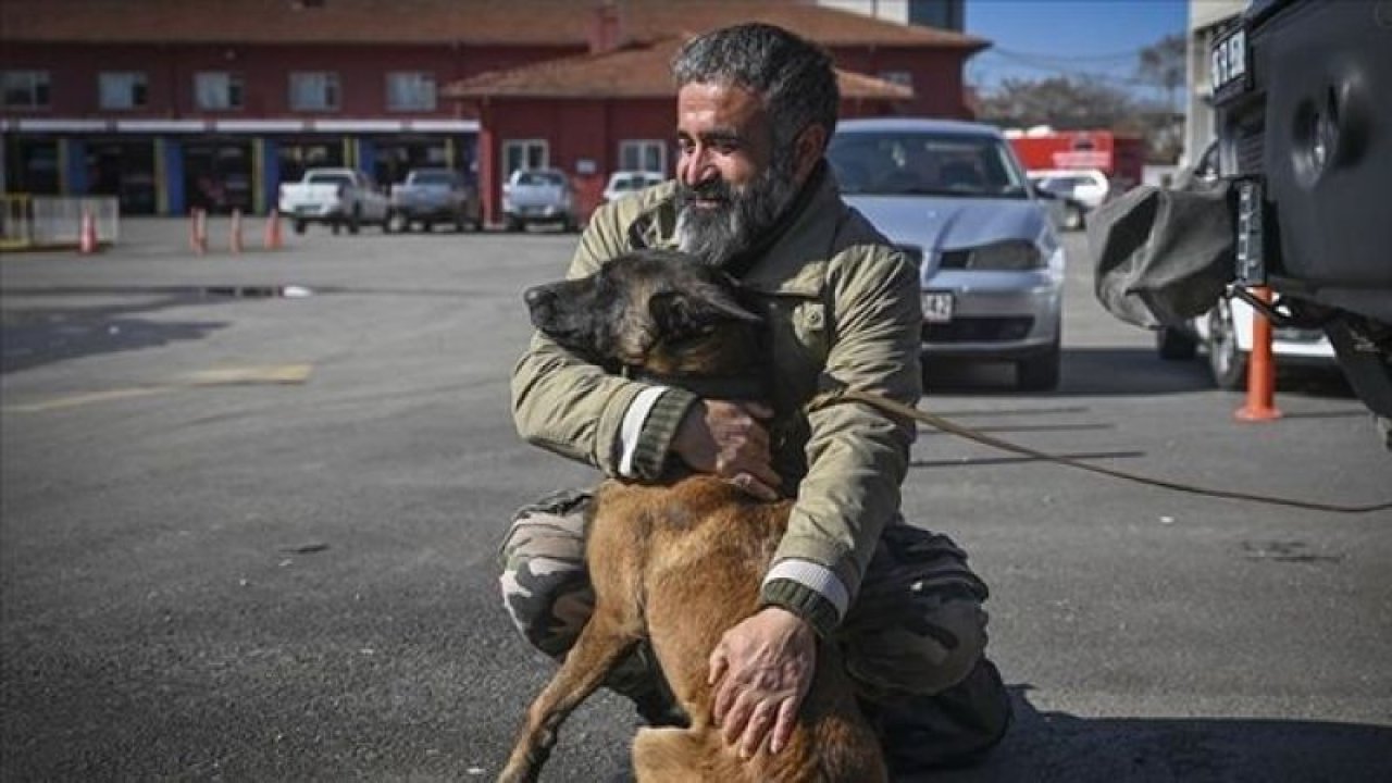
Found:
[{"label": "white car partly hidden behind orange cone and dark vehicle", "polygon": [[[1162,359],[1192,359],[1203,347],[1214,385],[1228,390],[1246,389],[1254,315],[1251,305],[1242,300],[1218,300],[1208,315],[1193,319],[1187,329],[1157,332],[1155,348]],[[1338,366],[1334,346],[1320,329],[1274,327],[1271,355],[1278,369],[1290,365]]]}]

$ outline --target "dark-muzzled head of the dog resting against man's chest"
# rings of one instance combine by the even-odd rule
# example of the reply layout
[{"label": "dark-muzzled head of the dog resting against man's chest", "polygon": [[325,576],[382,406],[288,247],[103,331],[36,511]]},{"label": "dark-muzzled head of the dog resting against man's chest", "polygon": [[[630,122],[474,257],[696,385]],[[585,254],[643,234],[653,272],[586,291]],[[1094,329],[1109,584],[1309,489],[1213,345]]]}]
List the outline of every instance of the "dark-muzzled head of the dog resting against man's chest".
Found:
[{"label": "dark-muzzled head of the dog resting against man's chest", "polygon": [[537,329],[594,364],[710,376],[754,361],[761,319],[739,302],[734,279],[686,254],[625,254],[589,277],[537,286],[523,298]]}]

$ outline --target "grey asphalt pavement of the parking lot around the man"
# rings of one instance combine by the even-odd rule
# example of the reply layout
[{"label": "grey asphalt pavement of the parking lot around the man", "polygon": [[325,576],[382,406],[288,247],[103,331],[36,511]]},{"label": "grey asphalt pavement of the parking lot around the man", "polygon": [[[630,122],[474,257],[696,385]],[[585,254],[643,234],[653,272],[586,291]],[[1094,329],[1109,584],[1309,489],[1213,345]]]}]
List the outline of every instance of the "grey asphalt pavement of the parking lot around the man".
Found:
[{"label": "grey asphalt pavement of the parking lot around the man", "polygon": [[[491,779],[550,673],[497,598],[518,506],[596,479],[516,437],[521,293],[574,234],[0,256],[0,779]],[[1063,382],[930,368],[923,407],[1155,478],[1392,500],[1336,373],[1233,417],[1201,362],[1091,298],[1073,251]],[[947,782],[1392,780],[1392,511],[1339,514],[1079,472],[924,432],[905,490],[992,596],[1016,724]],[[600,694],[544,780],[625,769]]]}]

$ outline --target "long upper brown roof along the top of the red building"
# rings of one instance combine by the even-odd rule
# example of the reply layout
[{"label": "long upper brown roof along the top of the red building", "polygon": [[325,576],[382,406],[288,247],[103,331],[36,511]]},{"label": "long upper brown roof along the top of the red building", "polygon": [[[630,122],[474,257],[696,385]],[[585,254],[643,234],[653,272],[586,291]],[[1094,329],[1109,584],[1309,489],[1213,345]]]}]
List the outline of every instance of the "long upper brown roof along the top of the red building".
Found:
[{"label": "long upper brown roof along the top of the red building", "polygon": [[601,4],[636,40],[764,21],[824,46],[988,46],[798,0],[0,0],[0,40],[587,46]]}]

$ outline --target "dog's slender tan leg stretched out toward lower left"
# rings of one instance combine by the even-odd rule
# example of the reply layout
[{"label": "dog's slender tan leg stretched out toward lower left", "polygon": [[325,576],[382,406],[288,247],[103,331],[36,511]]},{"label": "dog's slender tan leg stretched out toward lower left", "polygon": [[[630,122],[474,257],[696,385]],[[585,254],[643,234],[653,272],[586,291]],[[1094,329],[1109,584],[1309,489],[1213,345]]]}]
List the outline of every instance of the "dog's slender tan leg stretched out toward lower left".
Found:
[{"label": "dog's slender tan leg stretched out toward lower left", "polygon": [[638,634],[621,626],[612,614],[599,612],[585,624],[565,663],[528,709],[526,723],[508,765],[498,775],[498,783],[530,783],[537,779],[555,745],[561,723],[638,644]]}]

